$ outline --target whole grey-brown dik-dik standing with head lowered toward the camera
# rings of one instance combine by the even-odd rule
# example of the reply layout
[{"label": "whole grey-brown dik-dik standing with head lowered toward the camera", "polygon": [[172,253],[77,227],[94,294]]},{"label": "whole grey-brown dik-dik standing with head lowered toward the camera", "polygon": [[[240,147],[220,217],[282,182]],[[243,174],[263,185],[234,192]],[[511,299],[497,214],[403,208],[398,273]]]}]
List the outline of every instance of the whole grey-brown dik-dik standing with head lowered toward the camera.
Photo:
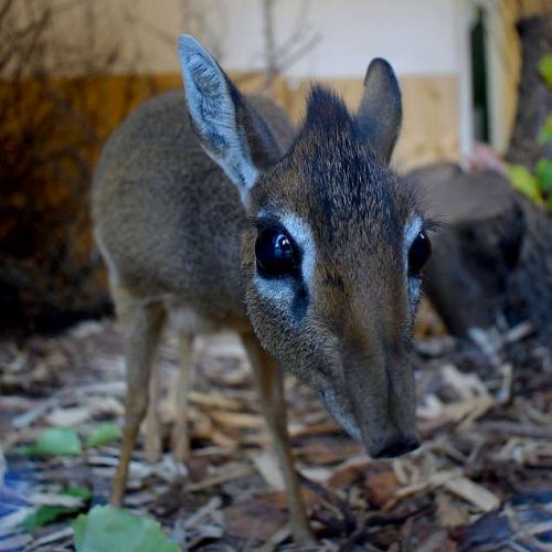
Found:
[{"label": "whole grey-brown dik-dik standing with head lowered toward the camera", "polygon": [[94,182],[96,237],[126,328],[112,501],[123,500],[150,393],[146,448],[155,455],[159,446],[152,357],[166,322],[181,343],[179,458],[188,455],[193,337],[232,329],[256,376],[295,539],[306,542],[279,367],[317,391],[372,457],[420,443],[408,352],[431,247],[416,198],[389,169],[399,83],[374,60],[354,115],[316,86],[294,134],[273,104],[241,94],[193,38],[182,36],[179,52],[185,99],[171,93],[135,112],[106,145]]}]

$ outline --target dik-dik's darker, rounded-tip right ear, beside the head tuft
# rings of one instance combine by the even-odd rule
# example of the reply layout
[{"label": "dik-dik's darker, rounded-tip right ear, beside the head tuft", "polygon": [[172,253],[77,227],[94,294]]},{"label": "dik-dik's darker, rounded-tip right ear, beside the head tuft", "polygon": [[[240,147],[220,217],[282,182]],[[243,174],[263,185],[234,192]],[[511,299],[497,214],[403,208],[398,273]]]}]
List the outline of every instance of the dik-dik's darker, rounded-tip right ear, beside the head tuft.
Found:
[{"label": "dik-dik's darker, rounded-tip right ear, beside the head tuft", "polygon": [[376,57],[364,77],[364,95],[357,121],[371,147],[388,162],[399,138],[402,118],[399,81],[391,65]]}]

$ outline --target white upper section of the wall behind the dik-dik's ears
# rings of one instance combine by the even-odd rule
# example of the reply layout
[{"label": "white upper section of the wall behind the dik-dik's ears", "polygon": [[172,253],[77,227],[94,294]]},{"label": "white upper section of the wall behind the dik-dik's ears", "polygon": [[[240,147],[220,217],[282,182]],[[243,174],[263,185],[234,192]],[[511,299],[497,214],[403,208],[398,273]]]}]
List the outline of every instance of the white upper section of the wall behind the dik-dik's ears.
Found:
[{"label": "white upper section of the wall behind the dik-dik's ears", "polygon": [[[457,73],[456,1],[277,0],[276,42],[286,42],[302,12],[304,30],[320,40],[289,76],[355,77],[374,56],[386,57],[402,75]],[[262,2],[217,3],[223,7],[212,8],[212,24],[222,31],[225,67],[262,68]]]}]

